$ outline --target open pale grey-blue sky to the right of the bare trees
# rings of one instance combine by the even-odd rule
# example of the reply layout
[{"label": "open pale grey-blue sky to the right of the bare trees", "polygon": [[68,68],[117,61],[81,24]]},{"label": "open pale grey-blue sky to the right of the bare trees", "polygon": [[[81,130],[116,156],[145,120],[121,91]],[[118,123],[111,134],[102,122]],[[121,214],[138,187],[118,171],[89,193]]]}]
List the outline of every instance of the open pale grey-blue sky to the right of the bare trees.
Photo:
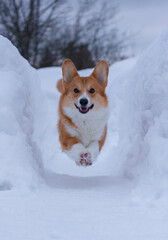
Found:
[{"label": "open pale grey-blue sky to the right of the bare trees", "polygon": [[119,27],[134,34],[133,52],[140,53],[168,28],[168,0],[118,0]]}]

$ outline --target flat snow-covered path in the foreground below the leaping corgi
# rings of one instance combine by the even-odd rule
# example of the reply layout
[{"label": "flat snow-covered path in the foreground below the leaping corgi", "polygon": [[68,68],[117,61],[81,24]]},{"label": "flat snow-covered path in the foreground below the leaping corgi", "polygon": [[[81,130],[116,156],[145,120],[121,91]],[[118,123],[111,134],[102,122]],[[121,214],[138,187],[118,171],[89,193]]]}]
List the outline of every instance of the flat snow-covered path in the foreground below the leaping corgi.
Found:
[{"label": "flat snow-covered path in the foreground below the leaping corgi", "polygon": [[128,185],[117,179],[73,183],[61,189],[1,192],[0,239],[167,239],[168,208],[131,201]]}]

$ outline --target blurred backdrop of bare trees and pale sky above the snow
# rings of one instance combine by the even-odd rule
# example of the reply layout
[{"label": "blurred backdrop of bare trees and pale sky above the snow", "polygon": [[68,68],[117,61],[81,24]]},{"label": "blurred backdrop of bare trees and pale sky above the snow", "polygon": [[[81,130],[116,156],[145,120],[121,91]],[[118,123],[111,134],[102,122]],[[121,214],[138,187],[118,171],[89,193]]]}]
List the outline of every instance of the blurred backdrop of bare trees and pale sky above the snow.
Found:
[{"label": "blurred backdrop of bare trees and pale sky above the snow", "polygon": [[110,65],[140,54],[168,22],[166,0],[0,0],[0,34],[35,68]]}]

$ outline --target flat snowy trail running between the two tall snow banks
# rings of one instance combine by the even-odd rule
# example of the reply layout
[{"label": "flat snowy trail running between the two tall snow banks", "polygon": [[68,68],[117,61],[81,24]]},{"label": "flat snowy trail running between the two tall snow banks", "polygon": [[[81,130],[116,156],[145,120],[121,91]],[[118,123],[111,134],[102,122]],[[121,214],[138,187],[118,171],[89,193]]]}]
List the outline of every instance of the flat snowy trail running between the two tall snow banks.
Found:
[{"label": "flat snowy trail running between the two tall snow banks", "polygon": [[[39,71],[48,108],[41,148],[48,168],[44,178],[50,187],[1,192],[0,239],[167,240],[168,208],[137,197],[135,183],[109,176],[108,144],[90,169],[76,167],[66,155],[61,157],[56,147],[59,95],[55,89],[55,75],[60,72],[54,68]],[[112,130],[117,142],[116,129]]]}]

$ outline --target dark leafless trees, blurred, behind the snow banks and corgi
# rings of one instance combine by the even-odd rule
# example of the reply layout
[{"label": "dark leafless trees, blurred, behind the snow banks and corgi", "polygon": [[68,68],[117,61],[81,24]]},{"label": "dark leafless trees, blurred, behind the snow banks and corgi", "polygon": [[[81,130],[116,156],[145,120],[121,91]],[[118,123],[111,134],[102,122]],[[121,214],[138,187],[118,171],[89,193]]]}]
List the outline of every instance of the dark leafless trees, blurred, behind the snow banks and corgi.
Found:
[{"label": "dark leafless trees, blurred, behind the snow banks and corgi", "polygon": [[70,58],[78,69],[124,58],[125,37],[116,27],[118,7],[109,0],[0,0],[0,33],[36,68]]}]

